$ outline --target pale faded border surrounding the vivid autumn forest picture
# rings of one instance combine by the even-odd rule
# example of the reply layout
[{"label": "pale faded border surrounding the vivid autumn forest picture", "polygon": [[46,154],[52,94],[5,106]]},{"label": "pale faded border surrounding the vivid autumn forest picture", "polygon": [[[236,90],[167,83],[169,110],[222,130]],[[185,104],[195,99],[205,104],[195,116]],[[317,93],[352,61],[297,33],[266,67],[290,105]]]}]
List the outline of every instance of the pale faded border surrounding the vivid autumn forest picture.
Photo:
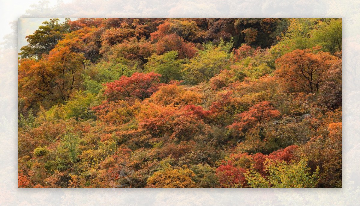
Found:
[{"label": "pale faded border surrounding the vivid autumn forest picture", "polygon": [[[359,205],[359,10],[356,0],[0,0],[0,204]],[[342,17],[343,188],[18,189],[17,20],[52,17]]]}]

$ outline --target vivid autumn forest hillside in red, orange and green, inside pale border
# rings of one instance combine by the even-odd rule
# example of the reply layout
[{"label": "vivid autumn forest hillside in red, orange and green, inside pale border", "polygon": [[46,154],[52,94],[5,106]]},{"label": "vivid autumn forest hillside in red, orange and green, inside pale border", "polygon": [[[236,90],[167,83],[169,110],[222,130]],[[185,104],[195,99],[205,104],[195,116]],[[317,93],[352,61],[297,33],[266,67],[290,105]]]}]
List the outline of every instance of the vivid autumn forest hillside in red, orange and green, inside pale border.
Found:
[{"label": "vivid autumn forest hillside in red, orange and green, inside pale border", "polygon": [[19,188],[341,188],[341,18],[52,18]]}]

